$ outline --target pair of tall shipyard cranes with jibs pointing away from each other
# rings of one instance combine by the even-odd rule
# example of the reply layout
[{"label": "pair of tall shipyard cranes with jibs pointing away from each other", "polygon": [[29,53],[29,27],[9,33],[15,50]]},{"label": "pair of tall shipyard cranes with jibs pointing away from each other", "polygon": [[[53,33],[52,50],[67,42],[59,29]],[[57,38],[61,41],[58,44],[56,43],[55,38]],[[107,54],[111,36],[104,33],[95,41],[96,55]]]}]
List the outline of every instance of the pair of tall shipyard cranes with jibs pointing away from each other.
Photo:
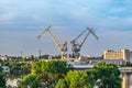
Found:
[{"label": "pair of tall shipyard cranes with jibs pointing away from each other", "polygon": [[[53,32],[51,30],[52,26],[48,26],[46,29],[44,29],[42,31],[42,33],[37,36],[38,38],[42,37],[42,35],[47,32],[52,38],[52,41],[54,42],[54,44],[56,45],[56,47],[59,50],[59,52],[62,53],[62,58],[66,57],[66,52],[67,52],[67,44],[72,44],[72,51],[73,51],[73,57],[78,57],[80,55],[80,48],[82,47],[84,43],[86,42],[88,35],[91,33],[97,40],[98,36],[95,34],[95,32],[92,31],[91,28],[87,28],[85,31],[82,31],[75,40],[68,41],[65,37],[63,37],[62,35],[57,34],[57,36],[59,36],[64,43],[59,43],[56,37],[53,35]],[[84,35],[87,32],[87,34],[85,35],[85,37],[81,40],[80,43],[77,43],[77,40]]]}]

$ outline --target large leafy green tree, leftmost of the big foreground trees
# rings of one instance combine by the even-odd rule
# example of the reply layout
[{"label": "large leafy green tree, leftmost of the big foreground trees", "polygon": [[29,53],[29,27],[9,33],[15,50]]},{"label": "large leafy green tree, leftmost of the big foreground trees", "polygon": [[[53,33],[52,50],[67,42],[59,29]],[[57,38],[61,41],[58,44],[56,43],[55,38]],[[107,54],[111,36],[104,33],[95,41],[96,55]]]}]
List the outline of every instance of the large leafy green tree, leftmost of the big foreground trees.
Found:
[{"label": "large leafy green tree, leftmost of the big foreground trees", "polygon": [[[40,61],[35,63],[35,65],[32,68],[32,76],[34,76],[34,79],[38,80],[42,87],[53,88],[58,79],[64,78],[65,75],[69,68],[66,66],[65,62],[62,61]],[[31,76],[31,77],[32,77]],[[29,78],[25,77],[24,81],[28,82]],[[31,86],[31,84],[28,84]]]}]

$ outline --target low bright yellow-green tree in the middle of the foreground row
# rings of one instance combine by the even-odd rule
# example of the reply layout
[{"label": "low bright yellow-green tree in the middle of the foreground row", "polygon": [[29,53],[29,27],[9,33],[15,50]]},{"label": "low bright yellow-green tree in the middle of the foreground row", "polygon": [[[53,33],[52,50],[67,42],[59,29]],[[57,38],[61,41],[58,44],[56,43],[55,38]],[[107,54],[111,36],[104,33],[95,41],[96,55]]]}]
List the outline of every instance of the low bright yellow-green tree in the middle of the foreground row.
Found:
[{"label": "low bright yellow-green tree in the middle of the foreground row", "polygon": [[68,72],[65,79],[59,79],[55,88],[94,88],[95,76],[90,72]]}]

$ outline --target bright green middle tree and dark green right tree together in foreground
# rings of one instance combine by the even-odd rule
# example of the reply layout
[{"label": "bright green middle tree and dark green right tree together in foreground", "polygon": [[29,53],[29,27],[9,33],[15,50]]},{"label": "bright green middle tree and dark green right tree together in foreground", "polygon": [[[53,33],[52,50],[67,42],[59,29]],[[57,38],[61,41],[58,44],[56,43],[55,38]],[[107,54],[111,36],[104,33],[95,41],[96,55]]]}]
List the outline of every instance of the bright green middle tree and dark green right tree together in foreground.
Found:
[{"label": "bright green middle tree and dark green right tree together in foreground", "polygon": [[68,72],[56,88],[121,88],[120,70],[116,65],[100,63],[90,70]]}]

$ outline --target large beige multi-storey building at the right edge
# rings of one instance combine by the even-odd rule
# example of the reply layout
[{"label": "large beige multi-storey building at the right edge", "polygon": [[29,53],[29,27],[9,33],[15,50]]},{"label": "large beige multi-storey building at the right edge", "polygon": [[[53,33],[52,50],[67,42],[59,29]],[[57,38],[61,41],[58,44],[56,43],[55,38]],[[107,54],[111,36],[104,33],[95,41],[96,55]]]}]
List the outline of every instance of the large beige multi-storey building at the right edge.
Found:
[{"label": "large beige multi-storey building at the right edge", "polygon": [[105,51],[103,59],[123,59],[124,62],[132,63],[132,51],[130,50],[120,50],[120,51]]}]

